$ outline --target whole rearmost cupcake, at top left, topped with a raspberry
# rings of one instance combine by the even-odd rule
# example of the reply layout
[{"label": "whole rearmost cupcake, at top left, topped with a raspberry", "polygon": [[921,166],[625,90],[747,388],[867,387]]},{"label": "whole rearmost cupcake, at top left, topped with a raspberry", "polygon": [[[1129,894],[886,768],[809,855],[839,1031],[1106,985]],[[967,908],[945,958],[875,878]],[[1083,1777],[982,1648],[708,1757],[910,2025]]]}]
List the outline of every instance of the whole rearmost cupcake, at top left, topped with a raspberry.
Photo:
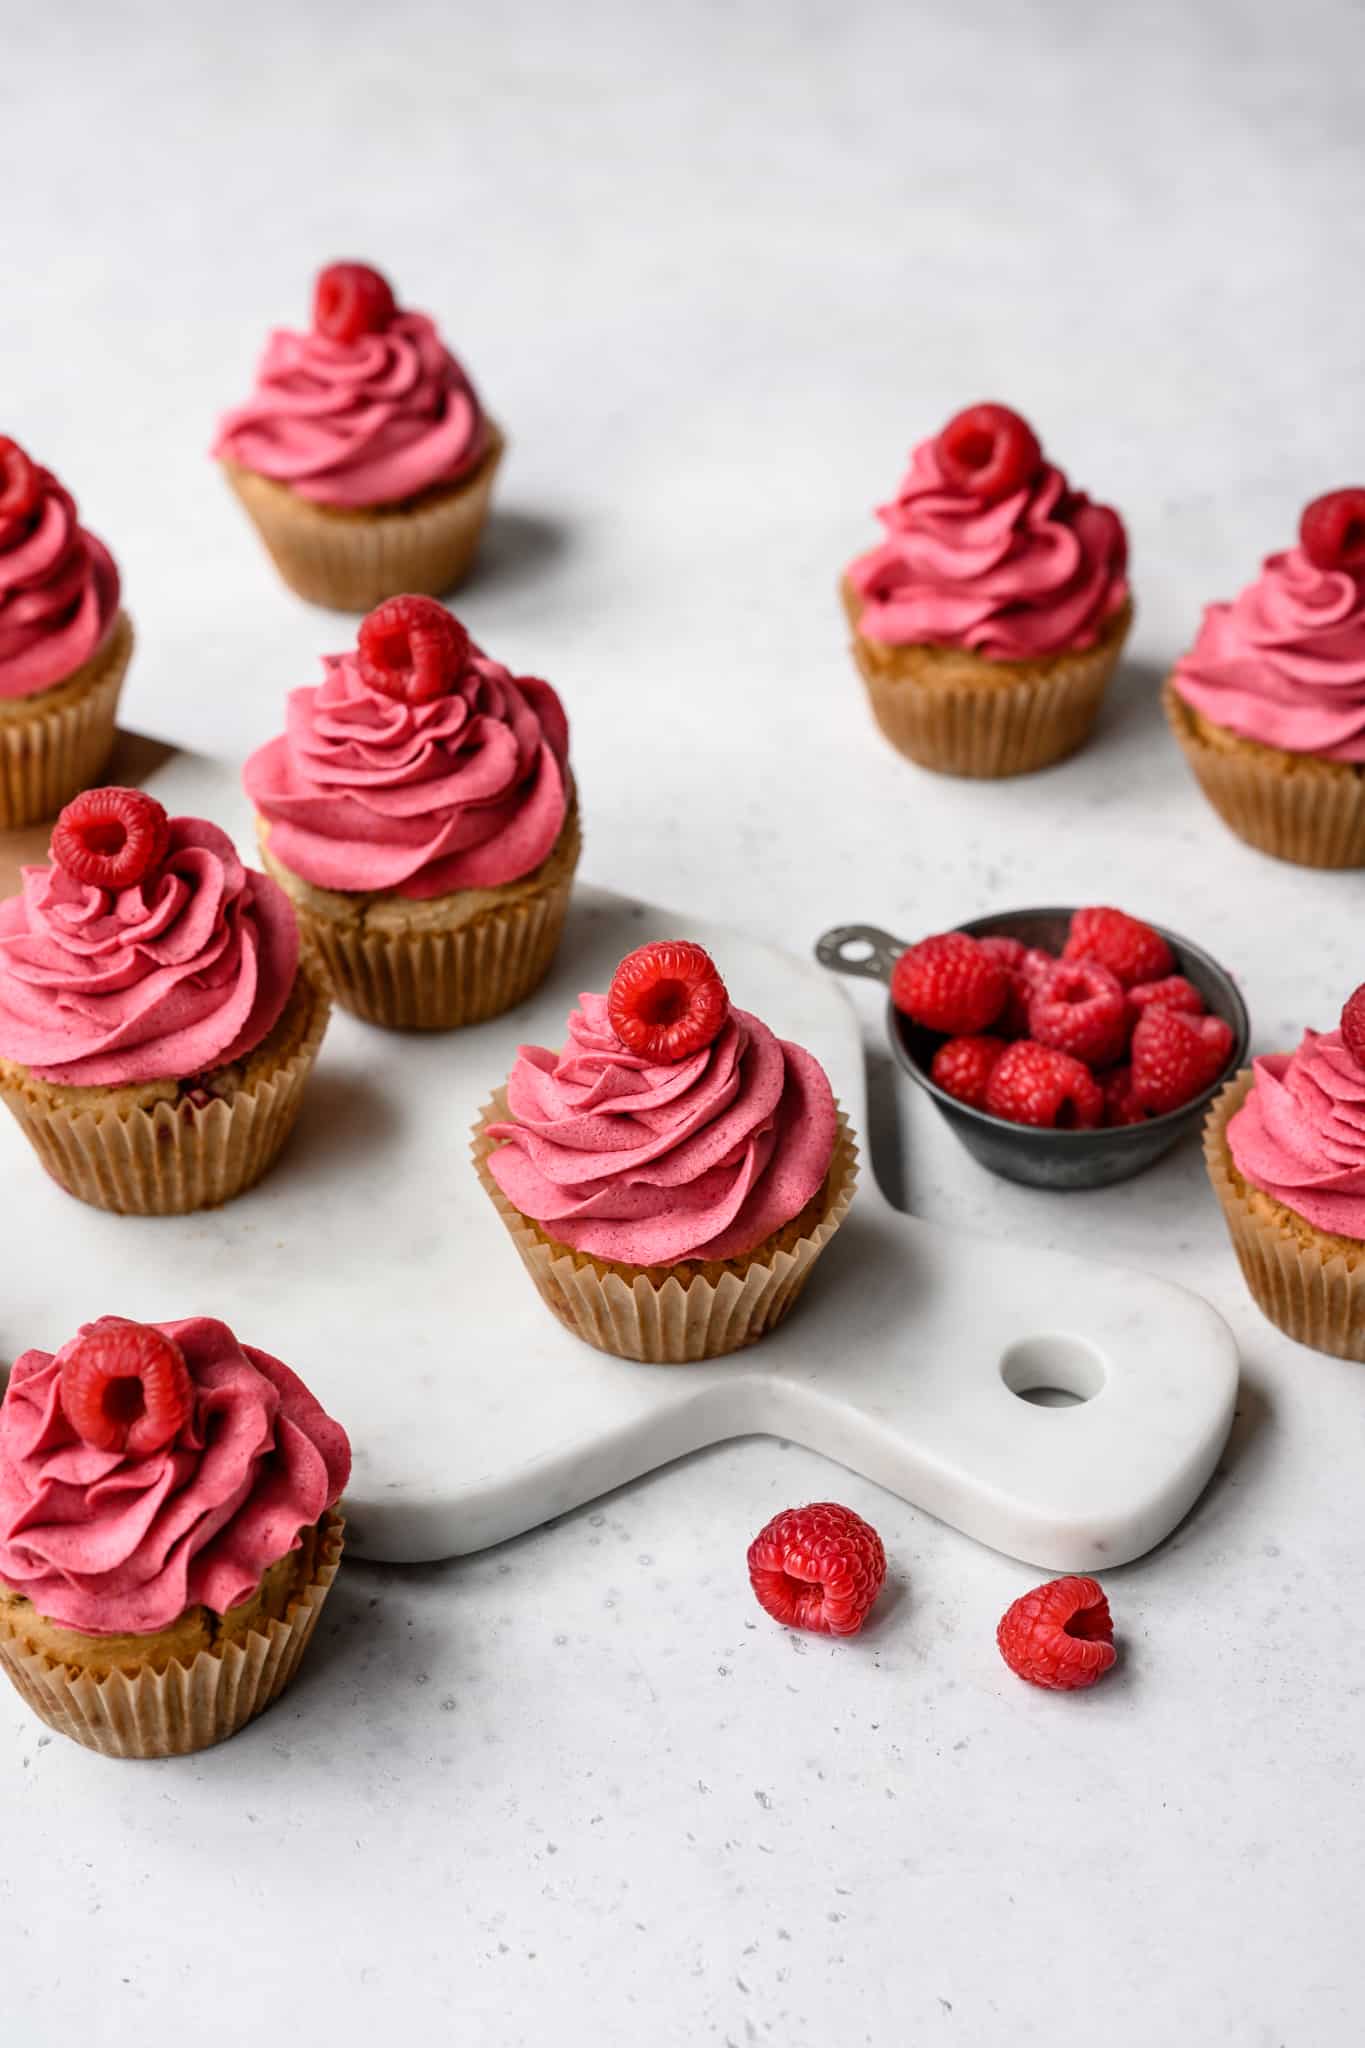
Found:
[{"label": "whole rearmost cupcake, at top left, topped with a raspberry", "polygon": [[313,328],[276,328],[213,455],[301,598],[368,612],[467,573],[503,440],[426,313],[360,262],[317,276]]}]

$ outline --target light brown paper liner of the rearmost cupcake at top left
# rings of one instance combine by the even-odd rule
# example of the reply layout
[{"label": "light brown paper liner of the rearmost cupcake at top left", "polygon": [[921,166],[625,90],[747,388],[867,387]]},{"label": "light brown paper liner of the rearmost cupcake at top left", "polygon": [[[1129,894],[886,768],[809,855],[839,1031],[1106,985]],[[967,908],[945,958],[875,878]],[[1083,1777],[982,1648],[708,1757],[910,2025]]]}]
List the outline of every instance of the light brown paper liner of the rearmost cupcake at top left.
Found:
[{"label": "light brown paper liner of the rearmost cupcake at top left", "polygon": [[469,477],[411,504],[354,512],[315,506],[237,463],[223,469],[297,596],[336,612],[368,612],[399,592],[440,598],[469,575],[501,453],[503,438],[491,428]]}]

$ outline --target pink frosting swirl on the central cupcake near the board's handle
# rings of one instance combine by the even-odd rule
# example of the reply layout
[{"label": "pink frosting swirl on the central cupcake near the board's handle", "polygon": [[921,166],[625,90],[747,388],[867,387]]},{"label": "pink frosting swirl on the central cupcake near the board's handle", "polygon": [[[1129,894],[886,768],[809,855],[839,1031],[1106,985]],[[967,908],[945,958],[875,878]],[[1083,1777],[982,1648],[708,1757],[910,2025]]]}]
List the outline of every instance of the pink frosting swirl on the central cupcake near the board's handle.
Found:
[{"label": "pink frosting swirl on the central cupcake near the board's handle", "polygon": [[561,1245],[626,1266],[731,1260],[800,1214],[835,1151],[825,1071],[745,1010],[677,1065],[581,995],[563,1053],[524,1044],[489,1171]]}]

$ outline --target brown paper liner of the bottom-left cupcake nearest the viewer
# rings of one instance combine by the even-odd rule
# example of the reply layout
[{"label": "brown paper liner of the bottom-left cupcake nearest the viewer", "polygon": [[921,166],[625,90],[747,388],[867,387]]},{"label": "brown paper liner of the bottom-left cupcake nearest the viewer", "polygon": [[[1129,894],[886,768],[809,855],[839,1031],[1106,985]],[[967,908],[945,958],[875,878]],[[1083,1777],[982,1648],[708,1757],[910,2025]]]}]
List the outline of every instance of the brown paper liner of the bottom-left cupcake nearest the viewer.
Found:
[{"label": "brown paper liner of the bottom-left cupcake nearest the viewer", "polygon": [[94,1677],[0,1632],[0,1665],[33,1712],[102,1757],[184,1757],[211,1749],[262,1714],[299,1669],[342,1561],[346,1524],[323,1516],[317,1567],[289,1604],[241,1640],[201,1651],[190,1665]]}]

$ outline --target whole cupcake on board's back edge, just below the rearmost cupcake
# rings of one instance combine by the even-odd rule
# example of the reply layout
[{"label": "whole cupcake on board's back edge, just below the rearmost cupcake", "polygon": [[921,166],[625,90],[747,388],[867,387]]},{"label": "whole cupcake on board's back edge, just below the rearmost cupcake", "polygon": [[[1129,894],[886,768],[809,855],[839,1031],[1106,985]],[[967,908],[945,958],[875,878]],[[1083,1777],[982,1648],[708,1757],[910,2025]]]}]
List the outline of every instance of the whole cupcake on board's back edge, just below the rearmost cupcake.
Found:
[{"label": "whole cupcake on board's back edge, just below the rearmost cupcake", "polygon": [[544,979],[579,858],[569,723],[432,598],[393,598],[246,764],[266,868],[370,1024],[454,1030]]}]

